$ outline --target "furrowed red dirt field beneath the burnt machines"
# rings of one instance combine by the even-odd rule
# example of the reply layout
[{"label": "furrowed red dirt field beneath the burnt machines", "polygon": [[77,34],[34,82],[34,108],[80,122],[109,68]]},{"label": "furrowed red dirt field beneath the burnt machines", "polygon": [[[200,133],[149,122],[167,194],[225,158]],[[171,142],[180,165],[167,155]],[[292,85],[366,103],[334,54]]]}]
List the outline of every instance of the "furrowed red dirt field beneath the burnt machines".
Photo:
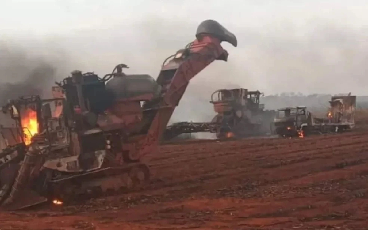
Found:
[{"label": "furrowed red dirt field beneath the burnt machines", "polygon": [[0,230],[368,229],[368,132],[168,144],[145,191],[2,212]]}]

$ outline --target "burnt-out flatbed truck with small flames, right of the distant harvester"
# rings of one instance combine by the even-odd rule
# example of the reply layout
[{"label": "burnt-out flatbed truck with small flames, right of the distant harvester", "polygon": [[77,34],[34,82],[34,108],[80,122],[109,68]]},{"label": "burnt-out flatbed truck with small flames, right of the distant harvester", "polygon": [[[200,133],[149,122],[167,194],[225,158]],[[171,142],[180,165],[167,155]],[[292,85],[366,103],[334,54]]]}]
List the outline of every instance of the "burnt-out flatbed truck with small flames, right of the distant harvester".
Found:
[{"label": "burnt-out flatbed truck with small flames, right of the distant harvester", "polygon": [[305,106],[278,109],[273,120],[273,133],[282,137],[304,137],[310,134],[344,132],[355,125],[356,96],[333,96],[322,118]]}]

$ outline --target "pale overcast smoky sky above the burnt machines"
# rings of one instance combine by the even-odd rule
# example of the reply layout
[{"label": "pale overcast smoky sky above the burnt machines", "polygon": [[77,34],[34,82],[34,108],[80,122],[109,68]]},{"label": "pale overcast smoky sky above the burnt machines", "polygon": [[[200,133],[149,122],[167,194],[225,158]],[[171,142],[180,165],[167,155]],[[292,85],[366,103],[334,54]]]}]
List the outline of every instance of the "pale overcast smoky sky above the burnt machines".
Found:
[{"label": "pale overcast smoky sky above the burnt machines", "polygon": [[[6,0],[0,40],[7,55],[21,46],[26,60],[52,62],[59,79],[74,69],[103,75],[118,63],[156,78],[164,58],[193,40],[201,21],[215,19],[237,36],[238,47],[224,44],[229,61],[213,63],[189,91],[200,88],[203,98],[237,86],[266,94],[362,95],[368,94],[367,12],[363,0]],[[8,67],[14,58],[3,55],[3,62],[10,59],[3,82],[24,77]]]}]

